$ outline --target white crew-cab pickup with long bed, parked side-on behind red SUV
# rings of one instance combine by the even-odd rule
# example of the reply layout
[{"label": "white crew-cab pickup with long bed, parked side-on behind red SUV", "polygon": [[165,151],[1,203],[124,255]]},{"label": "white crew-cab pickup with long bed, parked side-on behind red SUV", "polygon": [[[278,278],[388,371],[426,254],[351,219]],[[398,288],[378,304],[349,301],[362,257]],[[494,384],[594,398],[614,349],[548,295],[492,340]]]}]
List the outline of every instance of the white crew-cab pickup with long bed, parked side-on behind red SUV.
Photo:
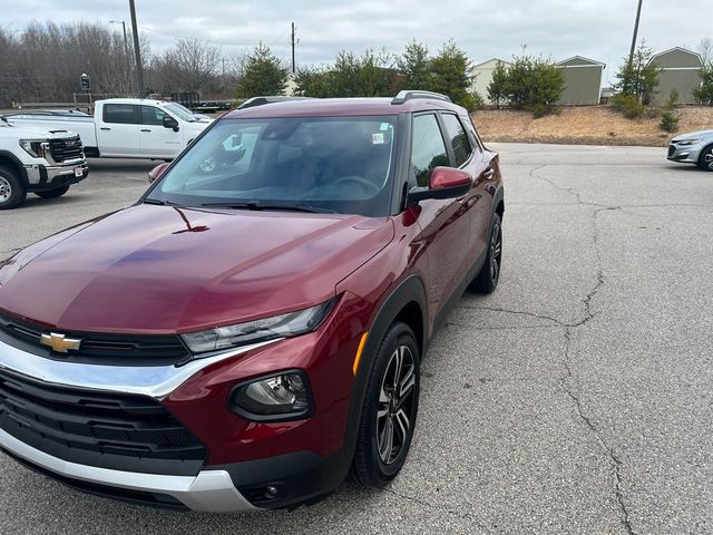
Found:
[{"label": "white crew-cab pickup with long bed, parked side-on behind red SUV", "polygon": [[175,158],[213,121],[175,103],[138,98],[97,100],[94,117],[32,111],[6,119],[10,125],[76,132],[88,157],[149,159]]}]

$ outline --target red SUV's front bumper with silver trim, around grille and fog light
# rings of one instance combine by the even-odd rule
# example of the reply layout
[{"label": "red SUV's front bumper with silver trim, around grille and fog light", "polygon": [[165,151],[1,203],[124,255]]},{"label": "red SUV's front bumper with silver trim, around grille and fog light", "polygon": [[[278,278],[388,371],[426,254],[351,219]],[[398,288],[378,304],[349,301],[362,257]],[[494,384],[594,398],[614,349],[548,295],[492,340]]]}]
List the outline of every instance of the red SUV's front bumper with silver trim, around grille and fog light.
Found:
[{"label": "red SUV's front bumper with silver trim, around grille and fog light", "polygon": [[[348,310],[362,312],[359,308]],[[29,440],[14,424],[0,426],[0,448],[30,468],[80,490],[145,505],[248,512],[290,508],[320,499],[342,483],[353,455],[344,442],[350,402],[345,392],[351,390],[352,361],[359,343],[352,324],[339,322],[332,330],[325,324],[319,332],[232,349],[183,366],[109,366],[52,359],[3,340],[0,331],[0,372],[14,374],[16,382],[25,378],[38,389],[152,398],[205,445],[208,456],[195,471],[184,474],[153,470],[148,464],[107,466],[106,460],[76,458]],[[334,339],[342,341],[336,349]],[[305,370],[312,385],[319,385],[318,414],[296,421],[254,422],[229,410],[226,399],[234,385],[283,367]],[[14,407],[12,412],[17,412]]]}]

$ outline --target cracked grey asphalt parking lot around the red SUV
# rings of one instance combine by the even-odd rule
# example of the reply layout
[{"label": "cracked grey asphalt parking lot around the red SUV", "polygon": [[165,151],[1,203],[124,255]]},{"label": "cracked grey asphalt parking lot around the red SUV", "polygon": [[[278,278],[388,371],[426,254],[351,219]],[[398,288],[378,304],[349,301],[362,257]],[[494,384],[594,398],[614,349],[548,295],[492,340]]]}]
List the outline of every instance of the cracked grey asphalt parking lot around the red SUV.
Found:
[{"label": "cracked grey asphalt parking lot around the red SUV", "polygon": [[[79,494],[0,454],[0,532],[713,533],[713,173],[662,148],[494,147],[500,286],[432,341],[388,489],[211,516]],[[0,212],[0,257],[131,203],[153,165],[94,160],[65,197]]]}]

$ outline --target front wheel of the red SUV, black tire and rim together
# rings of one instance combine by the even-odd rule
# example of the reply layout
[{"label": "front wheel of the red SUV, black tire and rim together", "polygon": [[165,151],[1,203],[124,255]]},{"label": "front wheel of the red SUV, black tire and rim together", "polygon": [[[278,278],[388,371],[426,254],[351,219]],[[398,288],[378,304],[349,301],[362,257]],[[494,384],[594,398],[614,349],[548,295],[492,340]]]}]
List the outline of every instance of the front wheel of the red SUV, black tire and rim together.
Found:
[{"label": "front wheel of the red SUV, black tire and rim together", "polygon": [[420,364],[411,329],[400,322],[391,325],[379,346],[367,386],[352,465],[355,483],[381,488],[403,467],[419,409]]}]

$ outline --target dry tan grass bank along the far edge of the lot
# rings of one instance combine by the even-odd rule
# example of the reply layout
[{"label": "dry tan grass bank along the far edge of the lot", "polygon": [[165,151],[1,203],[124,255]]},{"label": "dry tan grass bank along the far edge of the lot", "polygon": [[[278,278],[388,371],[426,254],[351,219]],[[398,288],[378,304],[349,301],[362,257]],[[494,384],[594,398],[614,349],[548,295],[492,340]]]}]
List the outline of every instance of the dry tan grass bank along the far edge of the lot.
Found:
[{"label": "dry tan grass bank along the far edge of the lot", "polygon": [[[577,145],[638,145],[663,147],[674,134],[660,128],[661,119],[631,120],[608,106],[558,108],[557,115],[533,118],[527,111],[482,109],[472,114],[484,140]],[[685,106],[678,133],[713,128],[713,107]]]}]

